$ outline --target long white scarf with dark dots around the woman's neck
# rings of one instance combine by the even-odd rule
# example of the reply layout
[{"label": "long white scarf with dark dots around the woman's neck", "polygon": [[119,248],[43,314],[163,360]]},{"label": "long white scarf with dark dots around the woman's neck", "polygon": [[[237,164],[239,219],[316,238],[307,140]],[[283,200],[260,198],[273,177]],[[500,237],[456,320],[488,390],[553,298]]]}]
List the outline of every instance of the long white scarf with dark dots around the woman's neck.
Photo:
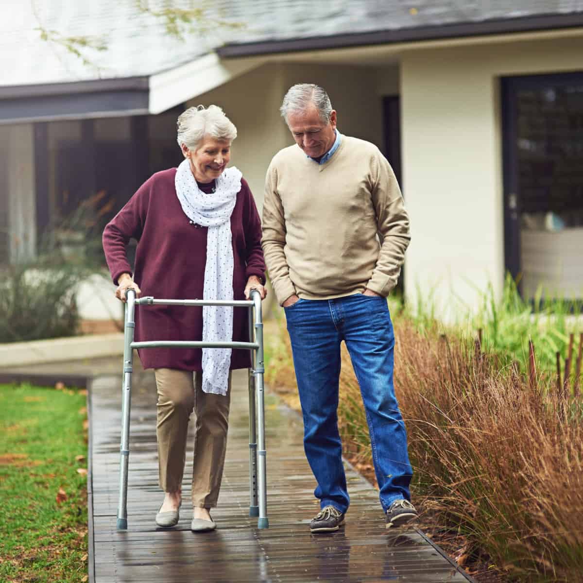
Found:
[{"label": "long white scarf with dark dots around the woman's neck", "polygon": [[[208,227],[203,299],[233,300],[233,245],[231,213],[241,189],[243,174],[226,168],[216,180],[215,192],[198,188],[188,160],[182,161],[174,180],[178,201],[194,223]],[[202,340],[218,342],[233,339],[233,308],[205,305],[202,308]],[[202,349],[202,390],[226,395],[229,387],[230,348]]]}]

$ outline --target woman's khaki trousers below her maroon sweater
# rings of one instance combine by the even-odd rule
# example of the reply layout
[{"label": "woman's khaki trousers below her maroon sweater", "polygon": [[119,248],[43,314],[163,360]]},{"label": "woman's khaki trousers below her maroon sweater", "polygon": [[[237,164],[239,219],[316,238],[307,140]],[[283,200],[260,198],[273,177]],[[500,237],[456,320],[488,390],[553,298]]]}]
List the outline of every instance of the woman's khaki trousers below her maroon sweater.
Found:
[{"label": "woman's khaki trousers below her maroon sweater", "polygon": [[157,426],[160,487],[181,490],[188,421],[194,410],[195,438],[192,468],[192,505],[214,508],[223,477],[227,447],[231,375],[226,396],[202,391],[202,373],[156,368]]}]

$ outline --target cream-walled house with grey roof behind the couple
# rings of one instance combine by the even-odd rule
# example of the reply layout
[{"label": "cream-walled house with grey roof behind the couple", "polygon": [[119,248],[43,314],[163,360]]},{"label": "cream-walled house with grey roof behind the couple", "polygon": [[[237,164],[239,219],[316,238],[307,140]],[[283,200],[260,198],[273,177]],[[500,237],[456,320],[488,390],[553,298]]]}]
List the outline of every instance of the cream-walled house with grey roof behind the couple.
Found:
[{"label": "cream-walled house with grey roof behind the couple", "polygon": [[[261,206],[269,160],[292,143],[283,94],[314,82],[401,181],[406,297],[475,305],[506,271],[527,297],[540,283],[583,297],[583,1],[220,0],[220,24],[186,40],[160,2],[30,6],[0,8],[2,261],[94,192],[115,210],[178,164],[175,118],[199,103],[237,125],[233,163]],[[104,50],[80,58],[65,34],[102,34]]]}]

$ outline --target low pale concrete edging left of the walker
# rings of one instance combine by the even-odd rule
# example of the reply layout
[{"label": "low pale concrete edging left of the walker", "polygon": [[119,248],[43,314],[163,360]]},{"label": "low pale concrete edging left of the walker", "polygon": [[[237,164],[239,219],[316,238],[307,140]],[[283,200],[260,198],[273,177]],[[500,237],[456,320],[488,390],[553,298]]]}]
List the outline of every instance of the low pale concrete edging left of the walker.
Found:
[{"label": "low pale concrete edging left of the walker", "polygon": [[124,353],[121,332],[0,344],[0,368],[94,359]]}]

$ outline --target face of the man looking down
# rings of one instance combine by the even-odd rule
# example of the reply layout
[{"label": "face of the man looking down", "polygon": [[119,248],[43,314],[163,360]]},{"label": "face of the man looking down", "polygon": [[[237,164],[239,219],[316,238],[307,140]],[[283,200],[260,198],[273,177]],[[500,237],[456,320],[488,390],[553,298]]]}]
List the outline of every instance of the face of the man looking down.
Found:
[{"label": "face of the man looking down", "polygon": [[334,145],[336,139],[336,111],[332,110],[330,121],[325,124],[318,115],[317,108],[310,104],[304,111],[294,111],[287,115],[287,125],[297,145],[312,157],[319,158]]}]

